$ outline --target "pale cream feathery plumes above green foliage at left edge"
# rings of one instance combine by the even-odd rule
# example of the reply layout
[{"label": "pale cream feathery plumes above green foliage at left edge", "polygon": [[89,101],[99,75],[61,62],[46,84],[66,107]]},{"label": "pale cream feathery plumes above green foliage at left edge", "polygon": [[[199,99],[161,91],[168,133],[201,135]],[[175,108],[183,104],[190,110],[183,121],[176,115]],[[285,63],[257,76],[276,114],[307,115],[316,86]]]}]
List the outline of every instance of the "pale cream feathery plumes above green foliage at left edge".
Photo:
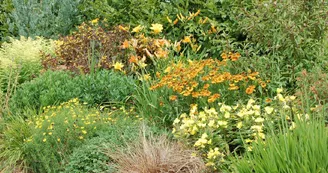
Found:
[{"label": "pale cream feathery plumes above green foliage at left edge", "polygon": [[[35,39],[21,36],[20,39],[10,38],[9,42],[0,47],[0,80],[4,82],[4,91],[11,80],[10,74],[17,74],[18,84],[29,81],[39,75],[41,51],[54,54],[54,42],[42,37]],[[15,75],[14,75],[15,76]]]}]

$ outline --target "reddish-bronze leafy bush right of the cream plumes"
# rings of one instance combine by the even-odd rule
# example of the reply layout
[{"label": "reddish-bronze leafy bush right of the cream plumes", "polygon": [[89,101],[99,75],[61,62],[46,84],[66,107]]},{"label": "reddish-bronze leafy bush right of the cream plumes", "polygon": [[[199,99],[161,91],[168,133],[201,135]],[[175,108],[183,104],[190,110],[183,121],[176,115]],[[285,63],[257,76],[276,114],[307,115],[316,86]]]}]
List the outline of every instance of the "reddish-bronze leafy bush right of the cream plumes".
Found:
[{"label": "reddish-bronze leafy bush right of the cream plumes", "polygon": [[98,20],[83,23],[72,35],[57,41],[56,56],[44,54],[45,69],[67,69],[75,73],[90,73],[95,69],[109,69],[120,61],[124,51],[120,46],[129,33],[118,27],[105,31]]}]

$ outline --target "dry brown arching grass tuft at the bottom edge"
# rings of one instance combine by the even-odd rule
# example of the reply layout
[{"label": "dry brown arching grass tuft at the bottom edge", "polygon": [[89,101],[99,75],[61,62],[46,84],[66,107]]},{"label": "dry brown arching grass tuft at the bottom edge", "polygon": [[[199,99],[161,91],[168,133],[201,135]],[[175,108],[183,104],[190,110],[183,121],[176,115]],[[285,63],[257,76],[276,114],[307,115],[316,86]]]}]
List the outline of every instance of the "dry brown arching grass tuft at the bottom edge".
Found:
[{"label": "dry brown arching grass tuft at the bottom edge", "polygon": [[119,173],[200,173],[205,165],[201,158],[192,156],[167,137],[140,137],[125,151],[111,151],[108,156],[117,164]]}]

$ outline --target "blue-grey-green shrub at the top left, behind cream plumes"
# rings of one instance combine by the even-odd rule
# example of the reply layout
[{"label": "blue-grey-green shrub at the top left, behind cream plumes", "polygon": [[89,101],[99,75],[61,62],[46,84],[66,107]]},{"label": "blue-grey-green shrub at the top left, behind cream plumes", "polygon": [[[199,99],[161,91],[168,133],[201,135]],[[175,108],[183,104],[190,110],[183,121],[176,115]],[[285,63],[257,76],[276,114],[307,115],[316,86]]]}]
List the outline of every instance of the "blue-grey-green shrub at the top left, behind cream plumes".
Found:
[{"label": "blue-grey-green shrub at the top left, behind cream plumes", "polygon": [[26,37],[66,35],[79,23],[80,0],[13,0],[11,17],[18,34]]}]

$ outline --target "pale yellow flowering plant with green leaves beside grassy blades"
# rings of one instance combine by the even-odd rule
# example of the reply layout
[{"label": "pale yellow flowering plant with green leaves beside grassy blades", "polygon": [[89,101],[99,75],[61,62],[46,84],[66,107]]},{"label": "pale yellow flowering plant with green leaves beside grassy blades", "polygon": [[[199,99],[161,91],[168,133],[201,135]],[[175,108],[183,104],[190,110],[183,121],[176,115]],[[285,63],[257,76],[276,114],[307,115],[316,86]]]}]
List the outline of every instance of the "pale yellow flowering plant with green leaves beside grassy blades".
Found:
[{"label": "pale yellow flowering plant with green leaves beside grassy blades", "polygon": [[[198,105],[191,105],[189,115],[181,114],[174,121],[174,136],[196,148],[206,161],[206,165],[214,170],[220,169],[228,162],[231,153],[240,154],[251,150],[249,143],[266,139],[266,131],[270,123],[278,124],[280,116],[286,115],[293,127],[292,115],[299,114],[295,109],[295,96],[284,97],[278,89],[273,101],[267,99],[234,106],[219,103],[219,108],[204,107],[198,111]],[[289,113],[289,111],[291,113]]]}]

